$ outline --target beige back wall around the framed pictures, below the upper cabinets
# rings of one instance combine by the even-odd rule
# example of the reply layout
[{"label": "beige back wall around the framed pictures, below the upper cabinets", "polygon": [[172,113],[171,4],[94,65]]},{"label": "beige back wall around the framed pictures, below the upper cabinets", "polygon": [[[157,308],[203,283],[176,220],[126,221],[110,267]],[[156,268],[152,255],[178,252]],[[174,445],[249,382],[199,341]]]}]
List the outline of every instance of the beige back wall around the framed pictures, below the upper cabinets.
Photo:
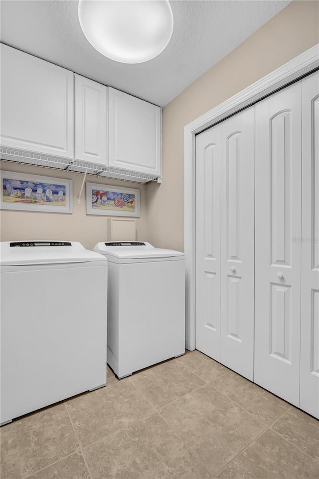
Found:
[{"label": "beige back wall around the framed pictures, below the upper cabinets", "polygon": [[[1,161],[1,169],[30,173],[55,178],[73,180],[73,214],[40,213],[33,211],[1,210],[1,241],[9,240],[73,240],[80,241],[86,248],[92,249],[98,241],[107,239],[107,218],[105,216],[86,215],[85,186],[80,205],[77,202],[83,174],[50,168],[31,167]],[[146,186],[138,183],[110,180],[88,175],[91,183],[139,188],[141,191],[141,216],[136,218],[137,239],[146,240]]]}]

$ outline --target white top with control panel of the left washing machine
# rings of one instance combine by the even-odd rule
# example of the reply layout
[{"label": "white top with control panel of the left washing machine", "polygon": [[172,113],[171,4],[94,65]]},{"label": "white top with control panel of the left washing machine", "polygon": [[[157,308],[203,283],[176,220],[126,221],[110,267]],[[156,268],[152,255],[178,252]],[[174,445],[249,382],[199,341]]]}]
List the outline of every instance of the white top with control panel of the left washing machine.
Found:
[{"label": "white top with control panel of the left washing machine", "polygon": [[78,263],[105,261],[105,256],[85,249],[77,241],[2,241],[0,265]]}]

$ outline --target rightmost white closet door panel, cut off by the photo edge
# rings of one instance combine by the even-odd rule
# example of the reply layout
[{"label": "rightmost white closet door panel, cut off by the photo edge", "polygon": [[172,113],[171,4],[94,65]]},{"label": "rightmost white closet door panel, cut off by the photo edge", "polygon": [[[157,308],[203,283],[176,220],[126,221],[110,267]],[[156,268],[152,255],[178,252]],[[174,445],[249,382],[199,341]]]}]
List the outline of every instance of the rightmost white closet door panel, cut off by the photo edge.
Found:
[{"label": "rightmost white closet door panel, cut off by the photo edge", "polygon": [[319,418],[319,73],[302,80],[300,407]]}]

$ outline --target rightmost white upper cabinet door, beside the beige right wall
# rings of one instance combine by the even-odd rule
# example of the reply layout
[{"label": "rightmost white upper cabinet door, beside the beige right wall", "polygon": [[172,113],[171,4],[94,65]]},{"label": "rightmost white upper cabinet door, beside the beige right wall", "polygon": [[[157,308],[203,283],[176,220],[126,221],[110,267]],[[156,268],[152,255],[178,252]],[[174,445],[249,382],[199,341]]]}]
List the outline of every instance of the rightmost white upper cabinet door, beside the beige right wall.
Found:
[{"label": "rightmost white upper cabinet door, beside the beige right wall", "polygon": [[109,88],[110,167],[160,176],[161,109]]}]

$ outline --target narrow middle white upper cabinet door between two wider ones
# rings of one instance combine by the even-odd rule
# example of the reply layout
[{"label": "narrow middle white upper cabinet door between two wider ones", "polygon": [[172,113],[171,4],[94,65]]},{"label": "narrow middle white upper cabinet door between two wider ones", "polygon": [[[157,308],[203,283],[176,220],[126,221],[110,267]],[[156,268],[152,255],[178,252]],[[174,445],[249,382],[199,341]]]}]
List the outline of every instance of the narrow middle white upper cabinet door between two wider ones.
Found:
[{"label": "narrow middle white upper cabinet door between two wider ones", "polygon": [[107,166],[107,87],[75,75],[75,159]]}]

